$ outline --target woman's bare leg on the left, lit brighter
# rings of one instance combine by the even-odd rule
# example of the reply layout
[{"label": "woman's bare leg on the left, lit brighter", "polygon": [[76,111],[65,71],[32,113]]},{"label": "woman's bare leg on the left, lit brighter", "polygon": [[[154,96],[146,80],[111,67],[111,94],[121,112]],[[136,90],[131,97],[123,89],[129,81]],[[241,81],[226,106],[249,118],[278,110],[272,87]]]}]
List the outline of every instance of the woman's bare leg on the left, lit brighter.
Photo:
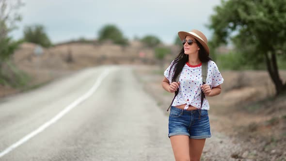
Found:
[{"label": "woman's bare leg on the left, lit brighter", "polygon": [[190,161],[189,136],[175,135],[170,137],[176,161]]}]

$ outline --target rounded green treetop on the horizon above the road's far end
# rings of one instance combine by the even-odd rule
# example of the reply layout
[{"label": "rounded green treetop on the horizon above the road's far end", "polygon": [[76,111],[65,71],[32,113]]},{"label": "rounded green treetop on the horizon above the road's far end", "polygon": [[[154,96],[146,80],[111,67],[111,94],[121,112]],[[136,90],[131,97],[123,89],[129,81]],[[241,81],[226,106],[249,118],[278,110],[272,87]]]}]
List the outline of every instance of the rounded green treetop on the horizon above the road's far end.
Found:
[{"label": "rounded green treetop on the horizon above the road's far end", "polygon": [[98,41],[112,40],[113,43],[119,45],[127,45],[128,40],[123,36],[123,33],[115,25],[105,25],[98,32]]}]

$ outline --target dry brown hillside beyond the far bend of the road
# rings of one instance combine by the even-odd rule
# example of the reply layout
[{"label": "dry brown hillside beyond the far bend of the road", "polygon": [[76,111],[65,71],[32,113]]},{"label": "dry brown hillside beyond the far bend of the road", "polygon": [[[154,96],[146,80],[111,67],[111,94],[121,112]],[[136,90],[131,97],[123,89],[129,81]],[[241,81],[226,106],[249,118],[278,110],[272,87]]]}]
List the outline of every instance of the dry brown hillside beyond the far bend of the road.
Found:
[{"label": "dry brown hillside beyond the far bend of the road", "polygon": [[[122,47],[105,42],[98,43],[63,43],[50,48],[42,48],[42,54],[35,54],[37,45],[23,43],[16,50],[11,62],[17,68],[27,73],[31,79],[26,86],[13,88],[0,85],[0,97],[26,91],[45,84],[56,78],[70,74],[89,66],[101,64],[156,64],[154,51],[146,48],[142,43],[133,41],[129,46]],[[177,47],[170,47],[174,53]],[[39,49],[38,49],[39,51]],[[172,55],[167,55],[170,60]],[[6,69],[4,69],[6,70]],[[13,71],[9,68],[6,70]]]}]

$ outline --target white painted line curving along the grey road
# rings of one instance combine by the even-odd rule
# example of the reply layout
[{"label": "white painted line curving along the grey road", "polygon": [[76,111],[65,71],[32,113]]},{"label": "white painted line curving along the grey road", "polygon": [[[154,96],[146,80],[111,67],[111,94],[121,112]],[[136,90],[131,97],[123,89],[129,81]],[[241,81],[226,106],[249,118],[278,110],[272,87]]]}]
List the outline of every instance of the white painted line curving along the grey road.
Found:
[{"label": "white painted line curving along the grey road", "polygon": [[84,101],[85,99],[87,99],[88,97],[90,97],[95,90],[99,87],[101,81],[109,74],[110,70],[105,70],[100,76],[99,78],[95,81],[95,84],[93,85],[93,87],[87,92],[85,93],[83,96],[79,97],[78,99],[76,99],[74,102],[72,102],[71,104],[69,104],[67,107],[64,108],[63,111],[61,111],[60,113],[58,113],[55,117],[53,117],[52,119],[50,119],[48,122],[46,122],[45,124],[43,124],[42,126],[40,126],[38,129],[32,131],[30,134],[26,135],[25,137],[23,137],[22,139],[20,139],[19,141],[17,141],[16,143],[14,143],[13,145],[9,146],[8,148],[6,148],[4,151],[0,152],[0,158],[3,157],[5,154],[9,153],[10,151],[12,151],[13,149],[15,149],[16,147],[18,147],[19,145],[22,145],[23,143],[27,142],[29,139],[31,139],[33,136],[37,135],[38,133],[42,132],[44,129],[48,128],[51,124],[55,123],[56,121],[58,121],[60,118],[62,118],[64,116],[64,114],[68,113],[71,109],[73,109],[74,107],[76,107],[77,105],[79,105],[79,103],[81,103],[82,101]]}]

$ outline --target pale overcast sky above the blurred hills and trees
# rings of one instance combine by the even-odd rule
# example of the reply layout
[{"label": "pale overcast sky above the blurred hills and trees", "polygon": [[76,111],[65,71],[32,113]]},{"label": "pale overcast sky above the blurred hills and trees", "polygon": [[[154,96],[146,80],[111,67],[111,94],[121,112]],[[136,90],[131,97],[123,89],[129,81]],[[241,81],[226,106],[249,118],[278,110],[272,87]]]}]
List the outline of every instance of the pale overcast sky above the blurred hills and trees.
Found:
[{"label": "pale overcast sky above the blurred hills and trees", "polygon": [[208,39],[207,29],[213,8],[221,0],[22,0],[23,20],[14,38],[23,36],[23,27],[42,24],[53,43],[79,37],[96,38],[106,24],[116,25],[130,40],[152,34],[171,44],[178,31],[198,29]]}]

